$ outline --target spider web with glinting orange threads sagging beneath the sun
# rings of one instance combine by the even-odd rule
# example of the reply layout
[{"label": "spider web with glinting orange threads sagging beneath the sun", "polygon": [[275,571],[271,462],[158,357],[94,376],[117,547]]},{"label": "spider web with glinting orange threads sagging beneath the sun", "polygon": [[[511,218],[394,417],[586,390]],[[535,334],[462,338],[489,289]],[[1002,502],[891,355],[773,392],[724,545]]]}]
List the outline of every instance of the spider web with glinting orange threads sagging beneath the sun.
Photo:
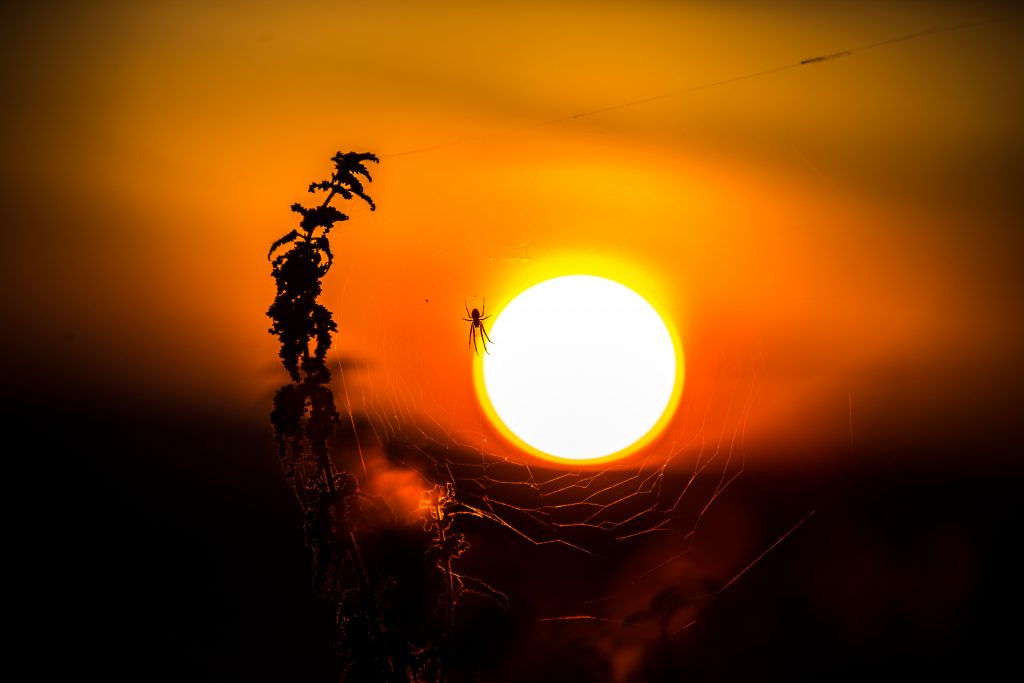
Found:
[{"label": "spider web with glinting orange threads sagging beneath the sun", "polygon": [[[668,552],[633,569],[643,579],[690,551],[708,512],[745,469],[748,417],[764,374],[756,354],[744,359],[742,372],[723,372],[731,379],[701,403],[687,401],[684,388],[657,445],[636,459],[573,467],[510,455],[510,446],[496,443],[482,410],[476,424],[459,421],[457,395],[431,391],[415,375],[391,367],[389,359],[401,356],[428,361],[402,337],[400,326],[391,316],[377,318],[377,325],[373,364],[334,358],[337,401],[354,437],[341,459],[364,474],[375,470],[371,461],[378,459],[378,467],[384,461],[388,471],[414,473],[423,488],[454,483],[462,503],[525,552],[558,546],[600,561],[656,543]],[[371,376],[372,382],[361,381]],[[713,411],[725,418],[709,420]],[[566,617],[604,618],[593,608],[544,616]]]}]

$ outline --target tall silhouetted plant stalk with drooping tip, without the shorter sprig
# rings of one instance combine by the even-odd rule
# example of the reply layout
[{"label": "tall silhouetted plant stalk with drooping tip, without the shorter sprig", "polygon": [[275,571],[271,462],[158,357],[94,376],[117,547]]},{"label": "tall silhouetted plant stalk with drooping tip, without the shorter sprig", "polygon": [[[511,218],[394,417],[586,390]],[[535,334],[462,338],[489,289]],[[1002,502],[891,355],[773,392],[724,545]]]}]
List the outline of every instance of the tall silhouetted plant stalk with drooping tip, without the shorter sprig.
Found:
[{"label": "tall silhouetted plant stalk with drooping tip, without the shorter sprig", "polygon": [[[334,254],[329,233],[348,216],[331,205],[336,197],[362,199],[375,209],[361,178],[372,180],[366,163],[372,154],[338,153],[334,173],[309,185],[326,193],[317,206],[293,204],[301,215],[299,227],[270,246],[267,258],[278,285],[267,310],[270,334],[281,341],[280,356],[292,380],[273,397],[270,422],[285,477],[305,515],[305,543],[312,554],[312,583],[316,593],[338,608],[339,647],[343,655],[358,656],[357,675],[367,680],[407,680],[397,677],[393,661],[382,648],[380,610],[373,604],[373,586],[359,552],[356,528],[362,514],[362,496],[355,476],[335,471],[328,451],[340,415],[329,383],[327,353],[338,326],[319,303],[321,279],[331,269]],[[360,615],[358,629],[353,615]],[[358,639],[369,642],[357,642]],[[373,676],[373,678],[369,678]]]}]

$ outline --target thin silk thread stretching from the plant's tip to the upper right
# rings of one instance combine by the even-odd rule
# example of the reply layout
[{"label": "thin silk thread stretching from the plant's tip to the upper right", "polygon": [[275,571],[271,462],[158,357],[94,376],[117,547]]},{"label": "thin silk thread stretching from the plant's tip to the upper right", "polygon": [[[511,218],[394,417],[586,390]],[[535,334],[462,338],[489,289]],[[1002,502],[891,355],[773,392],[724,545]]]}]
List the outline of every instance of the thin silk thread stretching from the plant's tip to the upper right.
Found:
[{"label": "thin silk thread stretching from the plant's tip to the upper right", "polygon": [[[782,65],[780,67],[773,67],[771,69],[765,69],[758,72],[753,72],[750,74],[743,74],[742,76],[733,76],[731,78],[722,79],[720,81],[713,81],[711,83],[701,83],[700,85],[694,85],[687,88],[681,88],[679,90],[672,90],[670,92],[663,92],[657,95],[650,95],[648,97],[642,97],[640,99],[631,99],[626,102],[618,102],[617,104],[609,104],[607,106],[601,106],[598,109],[588,110],[586,112],[580,112],[571,116],[562,117],[560,119],[553,119],[551,121],[545,121],[542,123],[535,124],[532,127],[543,127],[543,126],[554,126],[562,123],[567,123],[570,121],[575,121],[578,119],[583,119],[586,117],[595,116],[598,114],[605,114],[607,112],[613,112],[616,110],[627,109],[630,106],[637,106],[639,104],[646,104],[648,102],[657,101],[659,99],[667,99],[670,97],[677,97],[679,95],[685,95],[692,92],[697,92],[699,90],[707,90],[709,88],[715,88],[722,85],[728,85],[730,83],[737,83],[739,81],[749,81],[755,78],[761,78],[768,76],[770,74],[777,74],[779,72],[788,71],[791,69],[799,69],[800,67],[807,67],[810,65],[817,65],[824,61],[833,61],[841,57],[850,56],[856,52],[864,52],[866,50],[871,50],[878,47],[884,47],[886,45],[892,45],[894,43],[903,43],[910,40],[915,40],[918,38],[924,38],[926,36],[933,36],[939,33],[947,33],[950,31],[962,31],[964,29],[972,29],[979,26],[986,26],[988,24],[994,24],[998,22],[999,18],[988,18],[981,19],[978,22],[967,22],[963,24],[954,24],[948,26],[933,27],[931,29],[925,29],[923,31],[915,31],[914,33],[905,34],[903,36],[897,36],[895,38],[888,38],[886,40],[880,40],[874,43],[868,43],[867,45],[861,45],[860,47],[854,47],[846,50],[838,50],[836,52],[829,52],[827,54],[808,57],[806,59],[801,59],[787,65]],[[426,154],[428,152],[436,152],[437,150],[444,150],[446,147],[452,147],[458,144],[468,144],[472,142],[482,142],[484,140],[495,139],[500,137],[500,133],[494,133],[489,135],[479,135],[476,137],[464,138],[460,140],[452,140],[451,142],[441,142],[439,144],[433,144],[425,147],[417,147],[414,150],[406,150],[404,152],[392,152],[389,154],[380,155],[383,158],[393,158],[393,157],[407,157],[411,155]]]}]

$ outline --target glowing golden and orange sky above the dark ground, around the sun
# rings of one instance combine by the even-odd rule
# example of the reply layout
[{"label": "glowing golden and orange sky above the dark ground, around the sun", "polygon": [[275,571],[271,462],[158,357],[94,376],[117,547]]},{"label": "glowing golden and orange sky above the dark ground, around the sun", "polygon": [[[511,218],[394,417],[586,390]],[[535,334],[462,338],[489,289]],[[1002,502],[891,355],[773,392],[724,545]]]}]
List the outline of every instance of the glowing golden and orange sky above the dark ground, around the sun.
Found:
[{"label": "glowing golden and orange sky above the dark ground, around the sun", "polygon": [[1007,424],[1019,12],[551,4],[5,10],[8,376],[266,411],[266,249],[351,150],[381,156],[379,209],[343,207],[325,303],[358,405],[485,435],[463,301],[585,263],[680,331],[673,443],[835,454],[851,430],[867,449]]}]

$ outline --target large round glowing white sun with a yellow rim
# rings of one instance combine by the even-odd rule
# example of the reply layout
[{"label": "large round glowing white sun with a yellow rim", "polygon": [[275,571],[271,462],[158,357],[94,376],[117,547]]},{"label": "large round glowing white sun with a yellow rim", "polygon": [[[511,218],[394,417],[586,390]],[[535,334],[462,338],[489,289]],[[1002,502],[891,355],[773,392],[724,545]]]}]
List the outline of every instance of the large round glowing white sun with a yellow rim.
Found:
[{"label": "large round glowing white sun with a yellow rim", "polygon": [[596,275],[547,280],[492,321],[477,393],[496,426],[548,459],[598,463],[660,432],[682,390],[672,327],[643,297]]}]

